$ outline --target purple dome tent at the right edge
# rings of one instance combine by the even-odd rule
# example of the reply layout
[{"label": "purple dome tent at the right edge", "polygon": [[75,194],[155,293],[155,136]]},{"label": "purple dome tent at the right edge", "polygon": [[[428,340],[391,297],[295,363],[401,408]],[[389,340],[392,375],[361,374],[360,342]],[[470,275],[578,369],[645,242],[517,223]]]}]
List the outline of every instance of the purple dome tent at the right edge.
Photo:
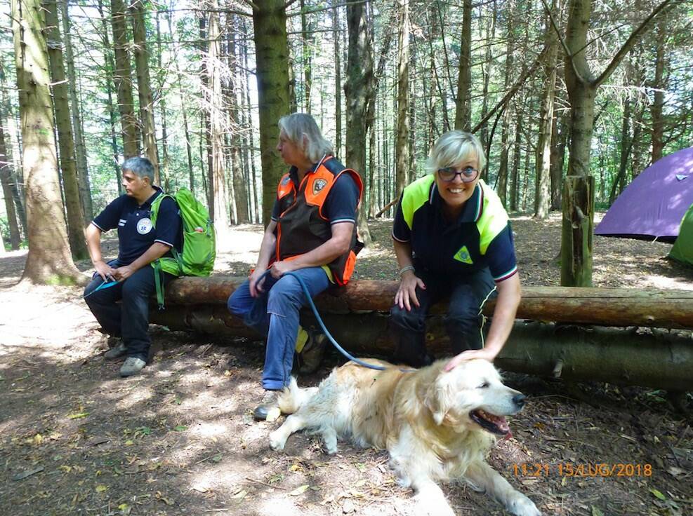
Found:
[{"label": "purple dome tent at the right edge", "polygon": [[693,204],[693,147],[659,159],[616,198],[596,235],[673,242]]}]

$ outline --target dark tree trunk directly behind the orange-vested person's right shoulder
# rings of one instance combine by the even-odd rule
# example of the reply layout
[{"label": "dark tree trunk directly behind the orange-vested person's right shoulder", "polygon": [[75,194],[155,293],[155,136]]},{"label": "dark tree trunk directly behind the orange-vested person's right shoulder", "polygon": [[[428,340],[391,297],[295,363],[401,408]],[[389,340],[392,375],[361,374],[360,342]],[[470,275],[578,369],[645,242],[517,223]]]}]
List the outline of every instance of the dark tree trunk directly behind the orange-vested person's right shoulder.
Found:
[{"label": "dark tree trunk directly behind the orange-vested person's right shoulder", "polygon": [[[366,168],[366,135],[368,128],[367,108],[374,95],[372,37],[368,21],[369,4],[347,6],[349,46],[347,54],[347,80],[344,84],[346,102],[346,159],[345,165],[357,170],[366,184],[369,183]],[[370,171],[373,173],[373,171]],[[358,233],[365,245],[372,238],[368,228],[368,213],[364,205],[358,213]]]}]

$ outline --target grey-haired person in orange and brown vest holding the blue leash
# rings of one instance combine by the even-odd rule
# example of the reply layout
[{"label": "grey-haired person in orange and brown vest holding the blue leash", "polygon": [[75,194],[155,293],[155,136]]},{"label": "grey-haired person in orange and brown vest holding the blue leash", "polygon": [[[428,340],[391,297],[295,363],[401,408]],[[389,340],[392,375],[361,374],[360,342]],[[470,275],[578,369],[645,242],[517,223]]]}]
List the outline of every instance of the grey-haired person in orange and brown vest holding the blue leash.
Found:
[{"label": "grey-haired person in orange and brown vest holding the blue leash", "polygon": [[[284,275],[301,276],[315,297],[331,284],[348,282],[362,248],[356,234],[361,178],[337,161],[312,116],[282,117],[277,151],[291,168],[279,180],[257,265],[228,300],[231,313],[267,337],[266,392],[253,412],[256,419],[267,419],[276,408],[277,391],[291,379],[294,350],[301,351],[305,342],[298,312],[307,300],[298,280]],[[322,355],[324,339],[313,334],[303,349]],[[317,368],[319,358],[313,362],[310,369]]]}]

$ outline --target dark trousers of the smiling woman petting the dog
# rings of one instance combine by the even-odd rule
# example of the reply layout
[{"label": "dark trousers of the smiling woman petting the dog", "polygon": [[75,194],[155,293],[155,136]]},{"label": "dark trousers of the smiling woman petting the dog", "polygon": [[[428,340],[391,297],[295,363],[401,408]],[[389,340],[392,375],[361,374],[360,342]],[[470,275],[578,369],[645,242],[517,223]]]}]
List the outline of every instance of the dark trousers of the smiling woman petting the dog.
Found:
[{"label": "dark trousers of the smiling woman petting the dog", "polygon": [[496,285],[489,269],[463,277],[450,277],[427,271],[416,271],[426,288],[416,288],[419,306],[411,311],[395,305],[390,309],[390,323],[395,334],[395,360],[413,367],[430,364],[433,358],[426,353],[425,318],[430,307],[449,297],[445,331],[450,337],[453,353],[466,349],[481,349],[484,345],[481,309],[484,302],[496,295]]}]

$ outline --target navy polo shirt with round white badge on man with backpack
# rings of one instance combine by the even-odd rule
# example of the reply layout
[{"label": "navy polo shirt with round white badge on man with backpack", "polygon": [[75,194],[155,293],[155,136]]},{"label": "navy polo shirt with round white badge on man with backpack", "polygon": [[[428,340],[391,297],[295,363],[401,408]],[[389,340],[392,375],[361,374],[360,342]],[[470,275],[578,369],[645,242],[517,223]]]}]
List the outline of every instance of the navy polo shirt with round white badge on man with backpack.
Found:
[{"label": "navy polo shirt with round white badge on man with backpack", "polygon": [[142,256],[154,242],[181,249],[181,223],[178,205],[166,197],[159,205],[157,226],[152,224],[152,202],[163,192],[156,192],[142,205],[127,195],[122,195],[104,208],[91,222],[101,231],[118,229],[118,264],[129,265]]}]

